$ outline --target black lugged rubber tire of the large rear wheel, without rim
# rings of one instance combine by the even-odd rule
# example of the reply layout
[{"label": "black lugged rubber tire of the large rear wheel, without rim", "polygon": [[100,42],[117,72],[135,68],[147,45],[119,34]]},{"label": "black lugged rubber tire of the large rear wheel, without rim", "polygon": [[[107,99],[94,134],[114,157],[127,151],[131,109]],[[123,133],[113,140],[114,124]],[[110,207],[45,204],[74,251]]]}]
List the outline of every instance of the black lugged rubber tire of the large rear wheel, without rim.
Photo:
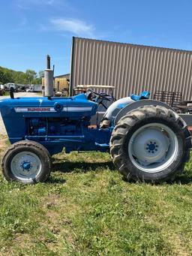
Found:
[{"label": "black lugged rubber tire of the large rear wheel, without rim", "polygon": [[[173,172],[169,172],[168,176],[163,176],[162,178],[154,178],[146,179],[145,176],[138,176],[138,173],[133,173],[127,168],[127,159],[126,155],[124,154],[123,150],[123,143],[124,140],[130,131],[130,128],[133,128],[133,126],[138,123],[139,121],[142,121],[146,118],[155,117],[158,119],[169,119],[169,122],[174,122],[181,130],[181,133],[184,134],[184,145],[185,145],[185,151],[183,152],[182,162],[178,164],[178,167]],[[138,107],[136,110],[131,110],[127,115],[121,117],[121,119],[118,121],[118,124],[115,126],[111,140],[110,140],[110,154],[113,158],[113,164],[115,164],[115,167],[118,168],[119,173],[121,173],[124,177],[124,179],[134,179],[135,181],[142,181],[142,182],[164,182],[167,180],[173,180],[175,179],[175,176],[178,173],[181,173],[184,170],[184,164],[186,161],[189,160],[189,153],[191,148],[191,142],[190,142],[190,133],[187,130],[187,125],[181,119],[180,116],[178,116],[177,113],[170,109],[166,109],[166,107],[162,106],[144,106],[144,107]]]}]

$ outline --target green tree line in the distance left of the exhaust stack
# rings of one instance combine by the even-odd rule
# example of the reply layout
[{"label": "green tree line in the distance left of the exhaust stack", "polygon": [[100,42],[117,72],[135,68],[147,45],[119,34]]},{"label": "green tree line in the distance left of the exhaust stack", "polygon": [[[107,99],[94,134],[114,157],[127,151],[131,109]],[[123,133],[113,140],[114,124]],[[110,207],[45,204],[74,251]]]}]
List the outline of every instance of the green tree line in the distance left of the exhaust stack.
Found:
[{"label": "green tree line in the distance left of the exhaust stack", "polygon": [[43,71],[39,71],[38,74],[27,69],[26,72],[13,71],[8,68],[0,67],[0,84],[5,83],[18,83],[18,84],[41,84],[43,77]]}]

